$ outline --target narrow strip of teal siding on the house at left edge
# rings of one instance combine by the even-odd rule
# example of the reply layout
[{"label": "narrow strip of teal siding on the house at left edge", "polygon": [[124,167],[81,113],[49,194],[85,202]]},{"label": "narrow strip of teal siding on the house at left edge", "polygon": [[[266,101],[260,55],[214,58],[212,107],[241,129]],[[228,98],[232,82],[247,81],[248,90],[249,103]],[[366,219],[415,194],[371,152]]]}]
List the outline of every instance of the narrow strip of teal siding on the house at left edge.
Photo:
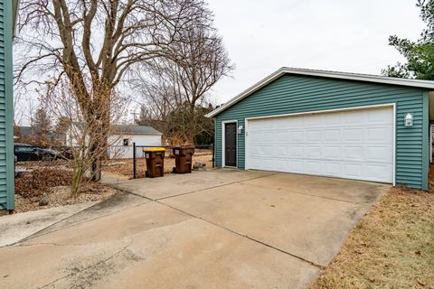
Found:
[{"label": "narrow strip of teal siding on the house at left edge", "polygon": [[14,209],[12,0],[0,0],[0,210]]}]

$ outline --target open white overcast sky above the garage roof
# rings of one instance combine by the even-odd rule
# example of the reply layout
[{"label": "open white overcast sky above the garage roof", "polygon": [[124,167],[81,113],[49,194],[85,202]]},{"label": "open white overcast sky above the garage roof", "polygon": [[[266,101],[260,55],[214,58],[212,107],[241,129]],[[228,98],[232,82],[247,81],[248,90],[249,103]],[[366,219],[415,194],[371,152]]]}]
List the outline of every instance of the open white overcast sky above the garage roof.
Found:
[{"label": "open white overcast sky above the garage roof", "polygon": [[208,0],[231,60],[223,103],[280,67],[380,74],[401,55],[391,34],[416,40],[425,27],[412,0]]}]

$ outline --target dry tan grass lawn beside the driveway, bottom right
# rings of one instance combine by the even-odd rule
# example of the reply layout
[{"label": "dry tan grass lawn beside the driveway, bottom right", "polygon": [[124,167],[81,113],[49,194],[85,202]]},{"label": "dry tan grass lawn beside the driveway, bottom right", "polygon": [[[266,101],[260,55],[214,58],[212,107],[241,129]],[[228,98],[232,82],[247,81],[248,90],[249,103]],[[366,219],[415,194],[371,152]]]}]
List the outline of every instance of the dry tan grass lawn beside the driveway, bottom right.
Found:
[{"label": "dry tan grass lawn beside the driveway, bottom right", "polygon": [[434,194],[392,188],[310,288],[434,288]]}]

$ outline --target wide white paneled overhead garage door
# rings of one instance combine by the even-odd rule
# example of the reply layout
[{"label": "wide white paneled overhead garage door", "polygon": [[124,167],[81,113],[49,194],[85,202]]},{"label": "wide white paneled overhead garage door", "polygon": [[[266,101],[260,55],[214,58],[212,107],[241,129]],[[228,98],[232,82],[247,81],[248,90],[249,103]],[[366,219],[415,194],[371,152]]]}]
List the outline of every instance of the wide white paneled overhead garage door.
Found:
[{"label": "wide white paneled overhead garage door", "polygon": [[246,168],[393,182],[393,108],[247,123]]}]

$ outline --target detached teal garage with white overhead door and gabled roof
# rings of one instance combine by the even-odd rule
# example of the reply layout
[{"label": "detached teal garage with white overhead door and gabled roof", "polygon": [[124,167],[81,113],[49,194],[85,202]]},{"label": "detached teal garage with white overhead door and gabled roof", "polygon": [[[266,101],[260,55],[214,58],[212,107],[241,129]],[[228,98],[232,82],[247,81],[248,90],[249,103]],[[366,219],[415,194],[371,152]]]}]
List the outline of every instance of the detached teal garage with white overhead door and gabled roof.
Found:
[{"label": "detached teal garage with white overhead door and gabled roof", "polygon": [[217,167],[428,190],[434,81],[282,68],[218,107]]}]

